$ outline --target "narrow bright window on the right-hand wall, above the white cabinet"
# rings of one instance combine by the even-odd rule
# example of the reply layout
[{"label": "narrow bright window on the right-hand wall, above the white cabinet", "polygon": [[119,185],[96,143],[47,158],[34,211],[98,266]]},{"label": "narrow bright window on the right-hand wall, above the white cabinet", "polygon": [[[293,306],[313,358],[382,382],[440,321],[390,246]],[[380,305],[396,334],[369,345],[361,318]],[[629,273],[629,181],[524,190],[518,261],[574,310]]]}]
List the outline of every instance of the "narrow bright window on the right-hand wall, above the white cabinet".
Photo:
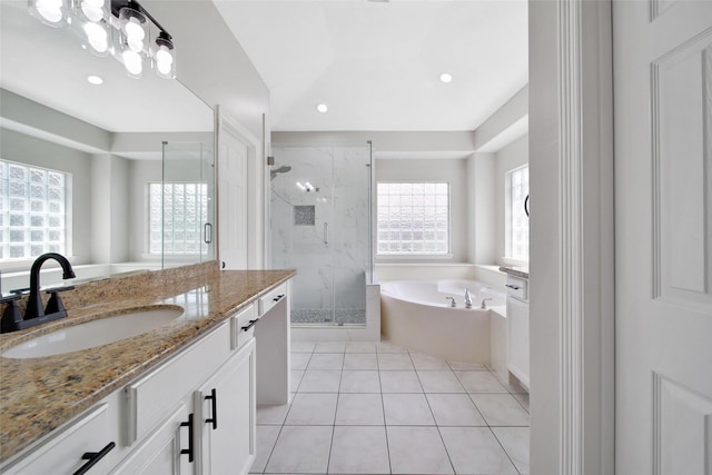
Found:
[{"label": "narrow bright window on the right-hand wall, above the white cabinet", "polygon": [[507,174],[508,234],[507,257],[530,259],[530,218],[524,201],[530,195],[530,167],[516,168]]}]

